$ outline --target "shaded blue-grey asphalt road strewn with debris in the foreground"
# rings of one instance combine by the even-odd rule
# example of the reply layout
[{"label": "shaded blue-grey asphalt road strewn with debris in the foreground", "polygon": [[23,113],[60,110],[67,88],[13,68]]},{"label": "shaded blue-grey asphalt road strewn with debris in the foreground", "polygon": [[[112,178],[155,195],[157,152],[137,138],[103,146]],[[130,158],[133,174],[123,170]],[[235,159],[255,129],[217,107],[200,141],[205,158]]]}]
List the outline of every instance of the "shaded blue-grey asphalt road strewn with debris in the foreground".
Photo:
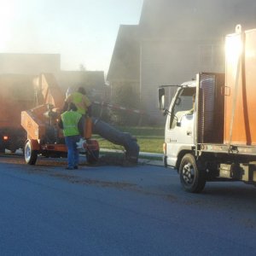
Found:
[{"label": "shaded blue-grey asphalt road strewn with debris in the foreground", "polygon": [[183,192],[161,166],[0,156],[1,255],[255,255],[256,188]]}]

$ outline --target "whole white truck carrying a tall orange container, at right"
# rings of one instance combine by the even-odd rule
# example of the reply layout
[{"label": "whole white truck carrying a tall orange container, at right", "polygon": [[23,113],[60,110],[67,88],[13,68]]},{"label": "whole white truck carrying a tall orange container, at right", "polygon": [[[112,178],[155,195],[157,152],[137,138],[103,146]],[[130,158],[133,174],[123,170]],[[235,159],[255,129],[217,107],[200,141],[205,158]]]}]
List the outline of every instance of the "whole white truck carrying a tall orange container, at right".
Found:
[{"label": "whole white truck carrying a tall orange container, at right", "polygon": [[198,73],[177,87],[168,109],[166,85],[159,88],[164,165],[176,168],[192,193],[207,181],[256,184],[256,29],[236,26],[225,55],[225,73]]}]

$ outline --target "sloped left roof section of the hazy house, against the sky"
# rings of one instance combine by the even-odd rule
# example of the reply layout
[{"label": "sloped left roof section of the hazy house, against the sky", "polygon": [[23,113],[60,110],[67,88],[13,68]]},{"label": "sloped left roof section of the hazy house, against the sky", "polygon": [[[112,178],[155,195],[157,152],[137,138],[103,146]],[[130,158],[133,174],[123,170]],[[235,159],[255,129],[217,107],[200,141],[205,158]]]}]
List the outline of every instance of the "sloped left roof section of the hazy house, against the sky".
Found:
[{"label": "sloped left roof section of the hazy house, against the sky", "polygon": [[119,26],[107,80],[139,79],[139,39],[137,25]]}]

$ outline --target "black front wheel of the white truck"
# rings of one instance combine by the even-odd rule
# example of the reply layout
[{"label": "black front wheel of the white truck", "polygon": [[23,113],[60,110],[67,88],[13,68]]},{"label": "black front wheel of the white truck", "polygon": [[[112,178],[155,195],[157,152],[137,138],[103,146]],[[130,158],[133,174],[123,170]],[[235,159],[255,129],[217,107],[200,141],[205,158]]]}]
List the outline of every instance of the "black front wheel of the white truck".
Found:
[{"label": "black front wheel of the white truck", "polygon": [[179,177],[183,189],[191,193],[199,193],[206,185],[204,170],[192,154],[185,154],[179,166]]}]

